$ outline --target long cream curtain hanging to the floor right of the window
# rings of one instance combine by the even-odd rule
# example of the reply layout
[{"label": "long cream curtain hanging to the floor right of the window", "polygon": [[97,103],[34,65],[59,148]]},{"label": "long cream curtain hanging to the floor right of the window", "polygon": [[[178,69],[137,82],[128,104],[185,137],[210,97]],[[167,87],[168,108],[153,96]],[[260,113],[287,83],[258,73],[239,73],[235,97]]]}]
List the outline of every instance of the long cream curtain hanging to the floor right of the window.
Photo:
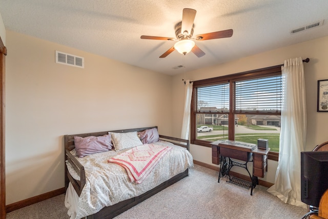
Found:
[{"label": "long cream curtain hanging to the floor right of the window", "polygon": [[306,208],[301,202],[300,152],[305,149],[306,103],[302,58],[284,61],[279,162],[275,184],[268,192],[284,203]]}]

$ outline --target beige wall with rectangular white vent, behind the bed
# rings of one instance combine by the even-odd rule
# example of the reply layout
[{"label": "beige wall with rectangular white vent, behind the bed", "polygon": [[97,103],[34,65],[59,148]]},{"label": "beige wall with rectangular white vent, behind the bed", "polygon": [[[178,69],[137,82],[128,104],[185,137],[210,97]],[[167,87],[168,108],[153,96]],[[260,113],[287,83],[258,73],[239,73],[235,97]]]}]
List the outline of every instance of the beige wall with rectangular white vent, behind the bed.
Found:
[{"label": "beige wall with rectangular white vent, behind the bed", "polygon": [[[171,76],[9,30],[6,46],[6,205],[64,187],[65,134],[171,135]],[[55,50],[85,68],[56,64]]]}]

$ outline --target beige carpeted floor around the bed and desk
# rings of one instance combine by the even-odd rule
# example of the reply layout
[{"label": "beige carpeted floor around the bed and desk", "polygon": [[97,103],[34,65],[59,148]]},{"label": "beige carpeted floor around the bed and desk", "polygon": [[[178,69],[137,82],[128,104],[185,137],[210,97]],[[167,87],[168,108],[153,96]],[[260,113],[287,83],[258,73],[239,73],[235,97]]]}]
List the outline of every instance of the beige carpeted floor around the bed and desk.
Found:
[{"label": "beige carpeted floor around the bed and desk", "polygon": [[[308,210],[284,204],[266,187],[250,190],[217,183],[218,172],[195,165],[190,176],[118,215],[121,218],[301,218]],[[6,218],[69,218],[65,195],[7,214]]]}]

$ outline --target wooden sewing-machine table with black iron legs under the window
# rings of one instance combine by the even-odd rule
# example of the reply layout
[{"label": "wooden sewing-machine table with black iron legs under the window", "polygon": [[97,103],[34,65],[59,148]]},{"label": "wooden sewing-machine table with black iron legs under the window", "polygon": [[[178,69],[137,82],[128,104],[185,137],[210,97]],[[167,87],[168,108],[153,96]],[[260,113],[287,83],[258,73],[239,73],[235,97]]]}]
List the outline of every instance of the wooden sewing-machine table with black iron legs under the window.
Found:
[{"label": "wooden sewing-machine table with black iron legs under the window", "polygon": [[[257,146],[253,149],[254,144],[236,142],[230,140],[219,140],[212,142],[212,163],[220,164],[220,177],[229,175],[229,171],[232,166],[239,166],[246,169],[251,177],[252,188],[251,195],[253,194],[253,188],[258,185],[258,177],[264,177],[268,172],[268,150],[259,149]],[[253,157],[253,160],[251,158]],[[234,158],[245,163],[232,161]],[[228,159],[228,161],[227,161]],[[247,169],[247,163],[253,162],[253,174],[251,175]]]}]

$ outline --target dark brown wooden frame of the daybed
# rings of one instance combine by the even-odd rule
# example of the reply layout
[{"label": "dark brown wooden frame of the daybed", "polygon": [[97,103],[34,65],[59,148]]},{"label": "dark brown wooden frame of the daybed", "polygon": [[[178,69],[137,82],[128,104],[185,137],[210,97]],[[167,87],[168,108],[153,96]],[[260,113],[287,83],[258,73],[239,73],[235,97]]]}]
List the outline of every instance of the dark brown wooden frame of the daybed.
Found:
[{"label": "dark brown wooden frame of the daybed", "polygon": [[[132,132],[132,131],[144,131],[146,129],[151,129],[151,128],[157,128],[157,126],[153,127],[146,127],[146,128],[134,128],[134,129],[123,129],[123,130],[114,130],[110,132],[117,132],[117,133],[125,133],[125,132]],[[69,182],[73,185],[76,193],[78,196],[81,194],[81,191],[83,187],[86,184],[86,175],[85,175],[85,170],[84,166],[81,165],[77,159],[70,153],[71,150],[75,148],[74,146],[74,136],[80,136],[80,137],[87,137],[87,136],[101,136],[108,134],[109,131],[103,131],[103,132],[93,132],[93,133],[84,133],[84,134],[72,134],[72,135],[65,135],[64,136],[64,141],[65,141],[65,161],[68,161],[74,170],[78,173],[80,176],[80,181],[75,180],[68,172],[67,166],[65,165],[65,191],[67,190]],[[189,150],[189,140],[181,139],[181,138],[176,138],[176,137],[170,137],[170,136],[165,136],[165,135],[159,135],[160,140],[171,142],[175,145],[185,147],[187,150]],[[178,182],[182,178],[188,176],[188,169],[185,170],[182,173],[179,173],[172,178],[170,178],[168,181],[163,182],[162,184],[156,186],[155,188],[147,191],[144,194],[141,194],[137,197],[130,198],[129,200],[125,200],[122,202],[119,202],[115,205],[105,207],[98,211],[95,214],[87,216],[88,219],[96,219],[96,218],[113,218],[120,213],[132,208],[133,206],[139,204],[140,202],[146,200],[150,196],[156,194],[157,192],[169,187],[170,185]]]}]

